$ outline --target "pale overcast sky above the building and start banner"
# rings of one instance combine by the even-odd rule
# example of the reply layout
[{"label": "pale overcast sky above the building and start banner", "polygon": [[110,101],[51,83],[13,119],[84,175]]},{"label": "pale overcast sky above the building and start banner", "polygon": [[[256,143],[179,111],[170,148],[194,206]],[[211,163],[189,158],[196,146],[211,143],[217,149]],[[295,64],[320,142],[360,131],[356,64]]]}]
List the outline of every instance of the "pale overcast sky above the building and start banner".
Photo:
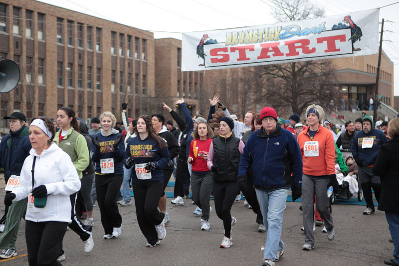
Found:
[{"label": "pale overcast sky above the building and start banner", "polygon": [[[182,32],[274,23],[272,0],[41,0],[42,2],[153,31],[155,38],[182,39]],[[398,0],[318,0],[326,16],[381,7]],[[380,9],[383,49],[395,65],[399,96],[399,3]],[[81,21],[84,22],[84,21]],[[356,22],[355,22],[356,23]],[[165,31],[165,32],[162,32]],[[386,32],[387,31],[387,32]],[[393,31],[393,32],[388,32]],[[385,42],[387,41],[387,42]],[[377,66],[377,62],[376,62]]]}]

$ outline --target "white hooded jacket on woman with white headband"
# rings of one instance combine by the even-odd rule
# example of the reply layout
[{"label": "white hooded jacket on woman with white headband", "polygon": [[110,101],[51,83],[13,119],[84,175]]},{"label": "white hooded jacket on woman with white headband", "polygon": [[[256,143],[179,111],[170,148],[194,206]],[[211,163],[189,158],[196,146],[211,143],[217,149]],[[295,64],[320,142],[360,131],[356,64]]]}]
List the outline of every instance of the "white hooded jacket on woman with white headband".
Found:
[{"label": "white hooded jacket on woman with white headband", "polygon": [[78,173],[71,158],[54,142],[40,155],[35,149],[23,162],[19,185],[12,191],[13,201],[26,198],[32,191],[32,164],[36,156],[34,167],[34,187],[45,185],[47,189],[47,203],[44,211],[32,212],[29,200],[26,208],[25,220],[32,222],[71,222],[71,202],[69,195],[80,189]]}]

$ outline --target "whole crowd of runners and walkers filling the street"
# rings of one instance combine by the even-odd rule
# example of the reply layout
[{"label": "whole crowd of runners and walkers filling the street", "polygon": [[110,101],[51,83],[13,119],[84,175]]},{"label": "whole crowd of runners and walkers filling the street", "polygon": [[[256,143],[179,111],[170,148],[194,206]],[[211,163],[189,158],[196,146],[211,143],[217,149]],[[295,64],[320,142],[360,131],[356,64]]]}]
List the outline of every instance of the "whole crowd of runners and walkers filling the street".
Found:
[{"label": "whole crowd of runners and walkers filling the street", "polygon": [[[122,123],[116,114],[103,112],[87,125],[68,107],[60,108],[56,119],[38,117],[29,125],[20,112],[4,117],[10,131],[0,143],[6,182],[0,258],[17,256],[23,218],[29,265],[61,265],[67,228],[89,253],[94,248],[93,206],[99,207],[95,215],[101,217],[108,240],[123,234],[119,207],[133,201],[145,246],[156,247],[173,219],[165,193],[173,175],[171,203],[182,205],[192,198],[199,230],[222,224],[221,242],[214,243],[220,248],[233,246],[237,219],[231,207],[241,194],[245,197],[258,231],[266,232],[263,266],[274,266],[284,254],[281,231],[289,194],[292,201],[301,198],[302,249],[311,251],[315,226],[323,226],[328,240],[335,238],[331,197],[362,191],[367,205],[363,214],[370,215],[375,212],[374,190],[395,245],[394,258],[384,262],[399,265],[399,118],[374,125],[364,115],[338,128],[325,120],[321,106],[312,104],[302,123],[298,114],[286,120],[271,107],[259,114],[249,111],[240,121],[217,96],[209,103],[206,117],[193,117],[184,99],[176,102],[183,116],[163,103],[167,118],[129,118],[124,103]],[[211,198],[219,219],[211,219]]]}]

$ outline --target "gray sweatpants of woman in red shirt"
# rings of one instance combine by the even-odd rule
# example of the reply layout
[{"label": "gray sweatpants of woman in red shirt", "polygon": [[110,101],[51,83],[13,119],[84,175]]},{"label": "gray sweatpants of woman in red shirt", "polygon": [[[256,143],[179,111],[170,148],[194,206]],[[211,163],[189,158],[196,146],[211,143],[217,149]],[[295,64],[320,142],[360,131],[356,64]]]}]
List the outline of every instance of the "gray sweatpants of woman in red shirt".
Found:
[{"label": "gray sweatpants of woman in red shirt", "polygon": [[193,201],[202,209],[202,219],[209,220],[209,200],[213,187],[213,174],[198,175],[191,174],[191,191],[193,192]]}]

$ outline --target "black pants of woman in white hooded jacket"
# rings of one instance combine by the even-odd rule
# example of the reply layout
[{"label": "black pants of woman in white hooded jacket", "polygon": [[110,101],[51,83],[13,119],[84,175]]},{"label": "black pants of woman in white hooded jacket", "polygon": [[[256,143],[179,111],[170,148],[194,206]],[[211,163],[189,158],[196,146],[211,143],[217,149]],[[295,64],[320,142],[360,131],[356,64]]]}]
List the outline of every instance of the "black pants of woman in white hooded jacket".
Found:
[{"label": "black pants of woman in white hooded jacket", "polygon": [[59,266],[66,226],[64,222],[25,222],[25,239],[29,266]]}]

